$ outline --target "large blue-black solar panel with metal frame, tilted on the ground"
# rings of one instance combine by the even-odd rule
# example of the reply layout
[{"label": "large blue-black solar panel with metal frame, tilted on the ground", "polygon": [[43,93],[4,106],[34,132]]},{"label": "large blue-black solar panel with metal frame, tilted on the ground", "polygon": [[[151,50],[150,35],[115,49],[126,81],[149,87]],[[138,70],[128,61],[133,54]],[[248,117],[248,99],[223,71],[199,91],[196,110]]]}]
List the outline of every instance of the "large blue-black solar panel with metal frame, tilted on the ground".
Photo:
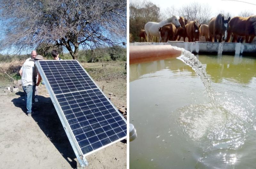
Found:
[{"label": "large blue-black solar panel with metal frame, tilted on the ground", "polygon": [[85,156],[126,138],[126,120],[78,61],[43,60],[36,67],[81,166]]}]

